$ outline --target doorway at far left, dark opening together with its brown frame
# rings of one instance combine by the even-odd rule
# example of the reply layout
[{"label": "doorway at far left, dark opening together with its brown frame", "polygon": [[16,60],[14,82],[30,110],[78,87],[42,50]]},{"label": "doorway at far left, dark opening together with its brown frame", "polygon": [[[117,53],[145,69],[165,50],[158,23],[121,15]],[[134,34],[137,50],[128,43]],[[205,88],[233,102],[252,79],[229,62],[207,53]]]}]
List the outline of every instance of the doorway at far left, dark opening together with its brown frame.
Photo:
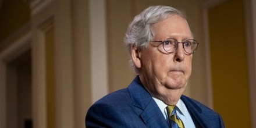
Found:
[{"label": "doorway at far left, dark opening together with its brown frame", "polygon": [[0,51],[0,126],[32,127],[31,33],[8,38]]}]

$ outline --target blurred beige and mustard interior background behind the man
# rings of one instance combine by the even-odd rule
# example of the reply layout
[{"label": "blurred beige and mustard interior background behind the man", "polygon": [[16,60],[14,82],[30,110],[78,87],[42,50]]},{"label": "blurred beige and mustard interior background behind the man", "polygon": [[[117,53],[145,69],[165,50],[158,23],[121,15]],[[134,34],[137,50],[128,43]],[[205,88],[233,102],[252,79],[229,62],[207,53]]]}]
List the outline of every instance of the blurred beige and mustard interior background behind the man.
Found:
[{"label": "blurred beige and mustard interior background behind the man", "polygon": [[85,127],[136,76],[123,37],[151,5],[181,10],[200,43],[184,94],[255,128],[254,0],[0,0],[0,127]]}]

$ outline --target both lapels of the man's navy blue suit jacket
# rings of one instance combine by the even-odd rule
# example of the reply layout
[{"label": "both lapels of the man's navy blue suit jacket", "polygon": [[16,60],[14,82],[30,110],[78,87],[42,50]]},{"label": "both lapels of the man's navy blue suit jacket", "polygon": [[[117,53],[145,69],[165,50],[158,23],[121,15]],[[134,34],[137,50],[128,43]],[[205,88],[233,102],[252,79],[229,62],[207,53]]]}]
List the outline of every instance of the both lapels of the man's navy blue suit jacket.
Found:
[{"label": "both lapels of the man's navy blue suit jacket", "polygon": [[[128,90],[132,105],[139,108],[137,111],[138,115],[141,116],[145,125],[148,127],[169,127],[157,103],[145,89],[138,76],[131,82]],[[200,106],[198,106],[198,102],[185,95],[182,95],[180,98],[187,106],[190,115],[197,121],[198,125],[201,127],[208,127],[207,121],[202,118],[208,115],[207,113],[204,113]]]}]

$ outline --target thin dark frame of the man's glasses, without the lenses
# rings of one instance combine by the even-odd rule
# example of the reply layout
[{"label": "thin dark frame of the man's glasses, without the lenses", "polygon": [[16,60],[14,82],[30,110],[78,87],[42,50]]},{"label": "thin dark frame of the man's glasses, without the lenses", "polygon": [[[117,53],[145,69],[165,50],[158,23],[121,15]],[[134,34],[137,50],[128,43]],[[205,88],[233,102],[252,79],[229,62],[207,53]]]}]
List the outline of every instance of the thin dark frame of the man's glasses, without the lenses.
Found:
[{"label": "thin dark frame of the man's glasses, without the lenses", "polygon": [[[168,40],[168,39],[172,39],[172,40],[175,40],[176,42],[177,42],[177,47],[175,48],[175,50],[174,51],[172,51],[172,52],[175,52],[176,50],[177,50],[177,48],[178,48],[178,44],[179,43],[182,43],[182,47],[183,47],[183,49],[184,49],[184,51],[187,53],[187,54],[193,54],[195,51],[197,51],[197,47],[198,47],[198,42],[196,41],[196,40],[194,40],[194,39],[188,39],[188,40],[185,40],[185,41],[177,41],[175,38],[166,38],[165,40],[163,40],[163,41],[152,41],[152,40],[150,40],[150,42],[162,42],[162,46],[163,46],[163,43],[166,41],[166,40]],[[196,47],[195,47],[195,50],[193,51],[193,52],[187,52],[186,50],[185,50],[185,48],[184,48],[184,43],[186,42],[186,41],[189,41],[189,40],[193,40],[193,44],[196,44]],[[163,50],[165,50],[165,47],[163,47]],[[165,50],[166,51],[166,50]],[[166,51],[166,52],[168,52],[168,51]],[[170,53],[172,53],[172,52],[168,52],[169,54]]]}]

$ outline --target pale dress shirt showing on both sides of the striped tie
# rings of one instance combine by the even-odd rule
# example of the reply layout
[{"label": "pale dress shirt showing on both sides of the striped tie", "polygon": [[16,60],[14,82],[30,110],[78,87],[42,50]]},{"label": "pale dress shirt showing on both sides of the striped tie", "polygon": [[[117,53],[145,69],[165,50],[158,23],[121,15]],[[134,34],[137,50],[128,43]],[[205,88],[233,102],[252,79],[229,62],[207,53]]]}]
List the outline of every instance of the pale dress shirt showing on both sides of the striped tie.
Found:
[{"label": "pale dress shirt showing on both sides of the striped tie", "polygon": [[[158,107],[160,108],[160,110],[163,113],[163,116],[165,117],[166,121],[169,123],[168,121],[168,113],[167,113],[167,109],[166,107],[168,105],[166,105],[163,101],[154,98],[155,102],[157,102]],[[179,116],[179,118],[182,120],[183,124],[185,127],[190,127],[190,128],[195,128],[195,124],[190,116],[189,111],[187,110],[186,105],[184,104],[184,102],[182,101],[182,99],[179,99],[179,101],[176,104],[177,106],[177,116]]]}]

